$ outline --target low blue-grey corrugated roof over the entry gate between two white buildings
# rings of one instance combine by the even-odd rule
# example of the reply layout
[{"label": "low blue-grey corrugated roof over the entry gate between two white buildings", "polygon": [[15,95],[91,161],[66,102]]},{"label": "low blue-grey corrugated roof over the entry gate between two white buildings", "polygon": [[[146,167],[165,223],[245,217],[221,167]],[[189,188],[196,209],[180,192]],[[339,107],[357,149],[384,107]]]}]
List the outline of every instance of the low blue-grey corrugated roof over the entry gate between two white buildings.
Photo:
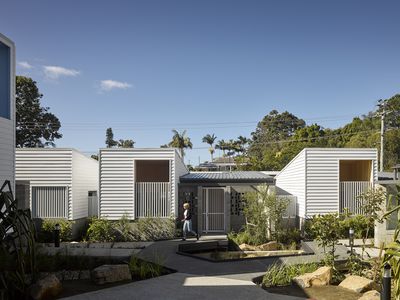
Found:
[{"label": "low blue-grey corrugated roof over the entry gate between two white buildings", "polygon": [[182,183],[273,183],[272,176],[257,171],[191,172],[180,177]]}]

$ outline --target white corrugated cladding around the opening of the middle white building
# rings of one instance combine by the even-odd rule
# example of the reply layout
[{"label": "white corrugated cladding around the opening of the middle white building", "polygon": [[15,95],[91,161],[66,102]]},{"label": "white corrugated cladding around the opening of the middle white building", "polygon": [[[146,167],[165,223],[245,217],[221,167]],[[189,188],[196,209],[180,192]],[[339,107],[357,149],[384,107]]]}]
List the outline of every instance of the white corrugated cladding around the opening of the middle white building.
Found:
[{"label": "white corrugated cladding around the opening of the middle white building", "polygon": [[100,149],[100,216],[112,220],[135,218],[135,160],[169,160],[171,212],[175,212],[177,180],[187,172],[176,149]]}]

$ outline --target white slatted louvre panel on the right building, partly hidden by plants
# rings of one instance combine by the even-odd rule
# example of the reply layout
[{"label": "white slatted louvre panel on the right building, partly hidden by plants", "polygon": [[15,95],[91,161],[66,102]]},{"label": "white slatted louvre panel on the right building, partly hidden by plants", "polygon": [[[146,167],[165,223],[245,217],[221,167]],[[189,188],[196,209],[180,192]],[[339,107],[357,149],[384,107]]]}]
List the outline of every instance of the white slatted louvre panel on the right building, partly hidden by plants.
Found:
[{"label": "white slatted louvre panel on the right building, partly hidden by plants", "polygon": [[340,212],[347,208],[353,214],[362,214],[362,204],[357,199],[365,193],[373,184],[368,181],[345,181],[340,183]]}]

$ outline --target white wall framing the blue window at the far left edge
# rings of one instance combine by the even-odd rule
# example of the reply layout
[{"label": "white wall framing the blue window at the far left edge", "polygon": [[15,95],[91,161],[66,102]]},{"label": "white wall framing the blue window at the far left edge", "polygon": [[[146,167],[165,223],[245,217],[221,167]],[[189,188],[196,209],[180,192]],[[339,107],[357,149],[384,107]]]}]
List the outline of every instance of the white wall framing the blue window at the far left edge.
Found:
[{"label": "white wall framing the blue window at the far left edge", "polygon": [[15,46],[0,34],[0,43],[10,48],[10,119],[0,117],[0,185],[5,180],[15,187]]}]

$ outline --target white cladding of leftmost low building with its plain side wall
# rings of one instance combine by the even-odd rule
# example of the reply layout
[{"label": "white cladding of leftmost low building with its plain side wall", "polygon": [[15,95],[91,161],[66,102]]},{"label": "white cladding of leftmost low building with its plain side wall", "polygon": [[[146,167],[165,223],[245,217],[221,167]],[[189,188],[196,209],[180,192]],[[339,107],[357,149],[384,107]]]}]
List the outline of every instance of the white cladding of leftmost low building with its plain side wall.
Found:
[{"label": "white cladding of leftmost low building with its plain side wall", "polygon": [[[68,192],[68,219],[87,217],[88,191],[98,189],[98,162],[74,149],[17,149],[16,179],[30,182],[30,205],[35,187],[65,188]],[[56,192],[54,195],[56,197]],[[49,203],[49,205],[56,203]],[[49,211],[53,208],[49,207]]]}]

